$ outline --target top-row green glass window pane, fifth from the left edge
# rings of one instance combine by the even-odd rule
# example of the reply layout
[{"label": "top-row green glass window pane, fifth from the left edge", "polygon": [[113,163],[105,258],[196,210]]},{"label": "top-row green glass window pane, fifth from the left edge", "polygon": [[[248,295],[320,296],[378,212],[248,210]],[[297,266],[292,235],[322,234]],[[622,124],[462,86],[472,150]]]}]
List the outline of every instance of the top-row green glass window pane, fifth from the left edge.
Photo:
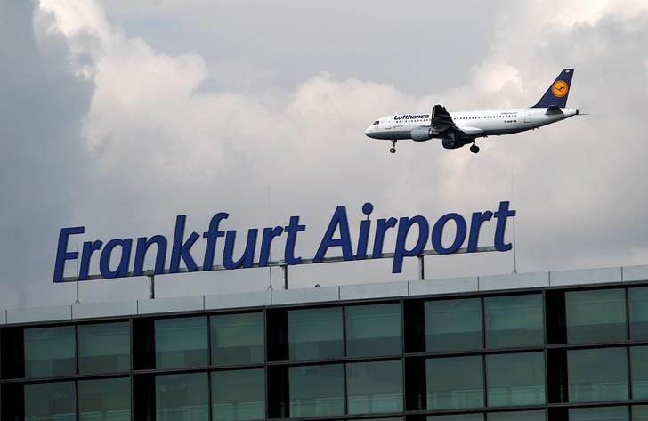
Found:
[{"label": "top-row green glass window pane, fifth from the left edge", "polygon": [[290,360],[320,360],[342,357],[342,308],[288,311]]}]

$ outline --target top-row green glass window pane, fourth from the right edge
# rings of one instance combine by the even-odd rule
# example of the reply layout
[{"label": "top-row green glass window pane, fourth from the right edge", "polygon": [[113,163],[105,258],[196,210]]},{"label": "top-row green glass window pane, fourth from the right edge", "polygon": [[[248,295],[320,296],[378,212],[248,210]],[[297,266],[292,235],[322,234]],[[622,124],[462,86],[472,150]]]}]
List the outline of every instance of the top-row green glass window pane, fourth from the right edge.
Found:
[{"label": "top-row green glass window pane, fourth from the right edge", "polygon": [[427,352],[482,349],[482,300],[425,302]]}]

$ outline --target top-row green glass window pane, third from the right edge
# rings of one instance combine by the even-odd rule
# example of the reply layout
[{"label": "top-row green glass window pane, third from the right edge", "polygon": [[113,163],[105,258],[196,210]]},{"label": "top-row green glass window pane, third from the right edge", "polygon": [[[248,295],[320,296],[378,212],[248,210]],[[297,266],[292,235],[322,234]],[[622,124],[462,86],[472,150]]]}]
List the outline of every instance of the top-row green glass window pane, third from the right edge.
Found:
[{"label": "top-row green glass window pane, third from the right edge", "polygon": [[486,347],[509,348],[541,345],[542,296],[493,296],[484,298]]}]

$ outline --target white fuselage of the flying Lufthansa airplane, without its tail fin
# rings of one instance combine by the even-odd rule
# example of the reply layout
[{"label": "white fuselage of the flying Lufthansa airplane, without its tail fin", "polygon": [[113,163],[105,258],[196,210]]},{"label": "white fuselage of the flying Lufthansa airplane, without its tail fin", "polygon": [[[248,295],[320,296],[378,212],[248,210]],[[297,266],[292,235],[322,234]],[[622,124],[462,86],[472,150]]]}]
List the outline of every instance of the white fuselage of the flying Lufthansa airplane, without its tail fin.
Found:
[{"label": "white fuselage of the flying Lufthansa airplane, without its tail fin", "polygon": [[[560,113],[547,113],[546,108],[484,109],[454,111],[450,112],[450,117],[455,125],[464,132],[462,137],[474,139],[524,132],[579,114],[578,109],[560,110],[562,111]],[[412,129],[430,127],[430,118],[429,112],[385,116],[378,119],[373,125],[369,125],[365,134],[372,139],[388,141],[411,139]],[[441,138],[442,136],[437,134],[432,137]]]}]

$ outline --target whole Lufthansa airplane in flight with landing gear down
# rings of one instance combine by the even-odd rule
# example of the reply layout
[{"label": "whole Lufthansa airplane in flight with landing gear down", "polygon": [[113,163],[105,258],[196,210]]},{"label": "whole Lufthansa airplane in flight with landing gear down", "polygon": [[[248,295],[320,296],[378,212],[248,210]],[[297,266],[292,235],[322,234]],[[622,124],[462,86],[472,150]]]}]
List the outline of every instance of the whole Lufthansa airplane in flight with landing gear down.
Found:
[{"label": "whole Lufthansa airplane in flight with landing gear down", "polygon": [[416,142],[441,139],[443,148],[456,149],[472,143],[470,151],[479,152],[475,139],[502,134],[515,134],[550,125],[565,118],[577,116],[578,109],[567,109],[571,77],[574,69],[564,69],[549,86],[536,105],[527,109],[485,109],[481,111],[448,112],[443,105],[435,105],[432,113],[396,114],[377,119],[365,134],[372,139],[396,141],[411,139]]}]

